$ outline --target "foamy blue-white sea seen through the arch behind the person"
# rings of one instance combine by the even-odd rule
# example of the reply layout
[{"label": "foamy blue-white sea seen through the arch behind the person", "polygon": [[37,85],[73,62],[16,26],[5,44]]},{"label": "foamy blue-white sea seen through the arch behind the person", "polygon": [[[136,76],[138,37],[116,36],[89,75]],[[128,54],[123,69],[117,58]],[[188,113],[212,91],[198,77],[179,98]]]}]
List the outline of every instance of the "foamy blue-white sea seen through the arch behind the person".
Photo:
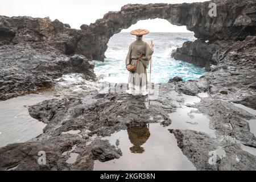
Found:
[{"label": "foamy blue-white sea seen through the arch behind the person", "polygon": [[[152,56],[151,81],[154,83],[166,83],[170,78],[179,76],[184,81],[194,80],[204,75],[205,69],[182,60],[175,60],[171,57],[172,51],[188,40],[195,40],[193,33],[171,33],[152,32],[143,36],[143,40],[150,44],[154,43],[154,54]],[[94,61],[99,81],[113,83],[125,83],[128,80],[129,72],[125,68],[125,59],[130,43],[135,36],[129,32],[121,32],[110,38],[108,49],[105,52],[106,59]],[[149,69],[147,69],[149,76]]]}]

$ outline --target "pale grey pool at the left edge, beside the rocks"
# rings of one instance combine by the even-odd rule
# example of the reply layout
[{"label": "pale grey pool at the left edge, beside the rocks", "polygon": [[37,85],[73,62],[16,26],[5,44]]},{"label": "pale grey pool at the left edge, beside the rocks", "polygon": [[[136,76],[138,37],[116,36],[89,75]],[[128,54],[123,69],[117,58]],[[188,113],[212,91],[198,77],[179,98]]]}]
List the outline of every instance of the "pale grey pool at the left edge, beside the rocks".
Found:
[{"label": "pale grey pool at the left edge, beside the rocks", "polygon": [[28,106],[51,98],[48,93],[40,93],[0,101],[0,147],[26,142],[42,134],[46,124],[32,118]]}]

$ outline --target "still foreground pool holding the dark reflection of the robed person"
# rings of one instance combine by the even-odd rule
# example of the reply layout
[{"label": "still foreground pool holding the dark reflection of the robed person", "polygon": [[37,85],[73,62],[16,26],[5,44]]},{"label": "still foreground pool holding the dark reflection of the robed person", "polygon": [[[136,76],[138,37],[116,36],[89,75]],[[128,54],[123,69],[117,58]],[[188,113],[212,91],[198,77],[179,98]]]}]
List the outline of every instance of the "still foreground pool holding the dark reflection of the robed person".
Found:
[{"label": "still foreground pool holding the dark reflection of the robed person", "polygon": [[196,170],[177,146],[174,134],[159,123],[131,127],[108,139],[119,147],[122,156],[94,163],[94,170]]}]

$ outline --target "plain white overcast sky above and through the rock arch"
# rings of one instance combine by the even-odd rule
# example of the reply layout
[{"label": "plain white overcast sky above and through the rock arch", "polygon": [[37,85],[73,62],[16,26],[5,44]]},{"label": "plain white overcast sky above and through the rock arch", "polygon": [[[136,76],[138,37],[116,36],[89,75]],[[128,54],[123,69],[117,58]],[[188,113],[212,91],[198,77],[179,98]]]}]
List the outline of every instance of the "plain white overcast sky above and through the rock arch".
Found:
[{"label": "plain white overcast sky above and through the rock arch", "polygon": [[[32,16],[51,20],[59,19],[72,28],[94,23],[108,11],[118,11],[127,3],[183,3],[205,0],[0,0],[0,15]],[[146,28],[150,32],[188,32],[185,27],[170,24],[164,19],[141,20],[127,30]]]}]

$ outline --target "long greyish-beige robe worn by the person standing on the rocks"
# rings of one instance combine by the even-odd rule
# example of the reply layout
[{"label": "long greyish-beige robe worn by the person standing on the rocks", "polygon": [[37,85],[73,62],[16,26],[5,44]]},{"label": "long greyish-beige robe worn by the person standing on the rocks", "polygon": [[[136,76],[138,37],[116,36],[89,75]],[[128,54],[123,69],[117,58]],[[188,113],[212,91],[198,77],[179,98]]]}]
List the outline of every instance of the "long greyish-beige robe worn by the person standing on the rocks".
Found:
[{"label": "long greyish-beige robe worn by the person standing on the rocks", "polygon": [[[136,71],[134,73],[130,72],[128,82],[129,88],[136,90],[145,90],[147,85],[147,70],[148,64],[150,63],[151,56],[154,50],[150,48],[150,46],[144,42],[142,39],[137,39],[133,43],[131,43],[129,47],[129,52],[126,57],[125,64],[136,65]],[[139,56],[141,60],[138,64],[136,64]]]}]

